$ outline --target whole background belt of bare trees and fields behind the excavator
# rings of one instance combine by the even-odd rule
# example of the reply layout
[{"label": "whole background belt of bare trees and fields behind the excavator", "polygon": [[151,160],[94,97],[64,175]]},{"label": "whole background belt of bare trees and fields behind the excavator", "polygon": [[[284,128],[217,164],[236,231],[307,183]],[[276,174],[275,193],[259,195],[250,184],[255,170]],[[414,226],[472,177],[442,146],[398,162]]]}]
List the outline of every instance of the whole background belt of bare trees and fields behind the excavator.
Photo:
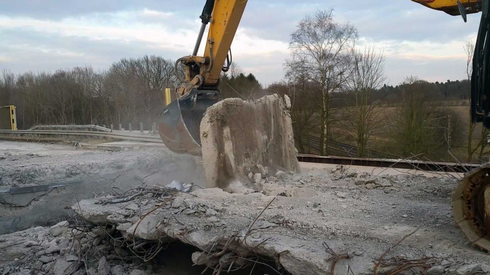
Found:
[{"label": "whole background belt of bare trees and fields behind the excavator", "polygon": [[[308,14],[291,34],[283,80],[264,86],[232,63],[221,75],[221,97],[254,100],[287,94],[300,153],[338,154],[332,144],[343,141],[357,148],[358,157],[376,150],[387,156],[440,160],[457,147],[456,154],[468,161],[487,155],[488,133],[482,129],[480,135],[475,125],[438,104],[468,100],[469,62],[466,80],[430,83],[407,76],[399,85],[386,85],[383,49],[360,46],[358,38],[353,25],[335,21],[332,9]],[[470,44],[465,47],[469,61],[467,47]],[[102,71],[83,66],[15,75],[4,69],[0,106],[17,106],[19,129],[43,124],[127,127],[140,122],[149,128],[165,106],[165,88],[178,85],[174,61],[154,55],[123,58]],[[467,133],[459,130],[464,124]]]}]

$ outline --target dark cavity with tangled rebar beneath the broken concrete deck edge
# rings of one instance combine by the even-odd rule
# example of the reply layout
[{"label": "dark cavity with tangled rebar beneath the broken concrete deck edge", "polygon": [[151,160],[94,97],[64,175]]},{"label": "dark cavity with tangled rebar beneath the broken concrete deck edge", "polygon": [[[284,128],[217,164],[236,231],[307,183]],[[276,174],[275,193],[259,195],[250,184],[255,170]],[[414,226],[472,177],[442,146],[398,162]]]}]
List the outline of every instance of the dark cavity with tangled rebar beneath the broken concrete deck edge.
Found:
[{"label": "dark cavity with tangled rebar beneath the broken concrete deck edge", "polygon": [[[202,255],[207,259],[213,258],[206,261],[206,263],[211,263],[206,268],[205,264],[196,265],[194,263],[195,255],[202,253],[196,246],[170,238],[164,238],[164,241],[160,242],[132,239],[121,231],[114,231],[111,227],[105,229],[97,227],[89,233],[75,233],[74,238],[73,253],[84,255],[88,259],[89,268],[100,268],[100,261],[106,260],[108,268],[119,266],[123,274],[139,270],[157,275],[289,275],[284,268],[279,270],[274,260],[270,258],[257,254],[246,254],[244,258],[241,258],[231,253],[233,249],[226,250],[226,253],[216,258],[210,256],[209,253],[203,253]],[[219,252],[219,249],[215,249],[213,254],[216,255]],[[98,260],[101,257],[104,257],[105,260]],[[219,272],[221,261],[232,262],[232,264],[222,265]]]}]

